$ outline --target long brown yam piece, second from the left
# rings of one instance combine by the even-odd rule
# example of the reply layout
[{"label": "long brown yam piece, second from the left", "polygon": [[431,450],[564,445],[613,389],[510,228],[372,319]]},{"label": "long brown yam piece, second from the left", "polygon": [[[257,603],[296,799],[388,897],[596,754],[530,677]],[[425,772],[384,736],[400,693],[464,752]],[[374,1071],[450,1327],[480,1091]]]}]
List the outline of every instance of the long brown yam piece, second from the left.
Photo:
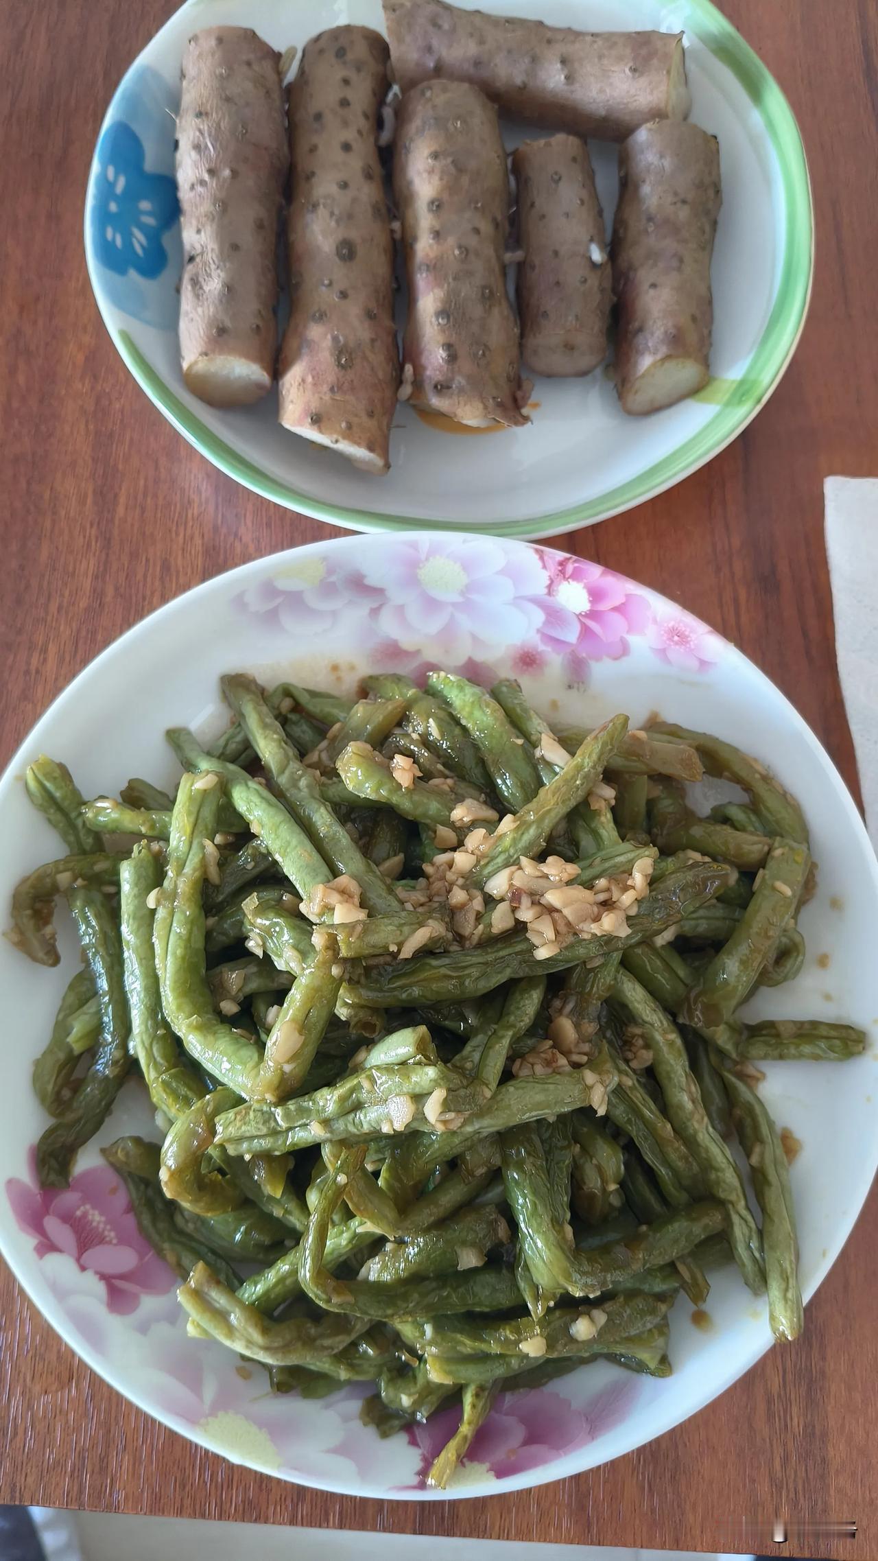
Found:
[{"label": "long brown yam piece, second from the left", "polygon": [[366,27],[306,45],[290,87],[290,323],[281,423],[370,471],[390,465],[399,353],[376,145],[388,48]]}]

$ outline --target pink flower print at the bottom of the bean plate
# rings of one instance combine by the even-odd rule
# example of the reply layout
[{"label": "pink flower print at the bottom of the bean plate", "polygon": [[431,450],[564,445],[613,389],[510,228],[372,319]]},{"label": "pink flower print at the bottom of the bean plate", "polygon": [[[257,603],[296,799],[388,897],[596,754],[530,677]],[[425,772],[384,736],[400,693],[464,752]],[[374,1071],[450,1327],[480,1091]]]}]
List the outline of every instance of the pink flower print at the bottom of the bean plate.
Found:
[{"label": "pink flower print at the bottom of the bean plate", "polygon": [[[462,1467],[468,1463],[483,1464],[497,1480],[540,1469],[613,1430],[630,1414],[636,1396],[638,1383],[625,1377],[608,1383],[582,1408],[574,1408],[561,1394],[546,1388],[501,1392],[488,1419],[476,1431]],[[460,1408],[455,1406],[430,1414],[424,1425],[407,1428],[409,1442],[421,1450],[420,1481],[457,1430],[458,1421]]]}]

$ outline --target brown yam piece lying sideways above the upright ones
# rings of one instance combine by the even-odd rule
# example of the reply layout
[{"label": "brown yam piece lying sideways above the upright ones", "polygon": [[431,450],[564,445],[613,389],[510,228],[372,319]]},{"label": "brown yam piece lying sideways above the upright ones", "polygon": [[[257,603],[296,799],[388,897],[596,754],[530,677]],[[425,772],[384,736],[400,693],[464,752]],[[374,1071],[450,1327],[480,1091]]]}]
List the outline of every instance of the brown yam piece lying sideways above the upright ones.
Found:
[{"label": "brown yam piece lying sideways above the upright ones", "polygon": [[689,112],[682,33],[577,33],[444,0],[384,0],[384,20],[402,92],[469,81],[516,119],[602,140]]}]

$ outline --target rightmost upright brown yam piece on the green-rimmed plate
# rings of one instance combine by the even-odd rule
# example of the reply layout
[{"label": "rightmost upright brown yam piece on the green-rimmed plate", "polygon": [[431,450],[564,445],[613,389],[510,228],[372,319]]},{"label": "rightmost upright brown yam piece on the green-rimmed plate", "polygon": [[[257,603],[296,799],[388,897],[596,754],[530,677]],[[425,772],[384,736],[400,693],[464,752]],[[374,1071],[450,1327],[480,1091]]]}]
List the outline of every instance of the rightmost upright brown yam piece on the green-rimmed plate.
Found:
[{"label": "rightmost upright brown yam piece on the green-rimmed plate", "polygon": [[644,125],[622,147],[611,256],[624,412],[657,412],[708,382],[720,200],[719,142],[697,125]]}]

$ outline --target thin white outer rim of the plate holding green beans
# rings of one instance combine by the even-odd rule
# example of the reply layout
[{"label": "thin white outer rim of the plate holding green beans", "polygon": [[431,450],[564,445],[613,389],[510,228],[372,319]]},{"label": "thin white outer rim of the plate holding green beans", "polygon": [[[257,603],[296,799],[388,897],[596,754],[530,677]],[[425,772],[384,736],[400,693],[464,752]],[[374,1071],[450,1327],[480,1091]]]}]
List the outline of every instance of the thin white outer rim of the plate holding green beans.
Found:
[{"label": "thin white outer rim of the plate holding green beans", "polygon": [[[444,537],[444,531],[438,529],[438,528],[423,528],[420,532],[409,532],[407,537],[405,537],[405,540],[412,540],[413,542],[413,540],[418,539],[418,535],[420,537],[430,537],[434,540],[441,540]],[[483,542],[485,540],[485,537],[480,532],[469,532],[468,535],[469,535],[469,539],[473,542]],[[381,540],[390,540],[390,539],[387,539],[382,534]],[[334,548],[334,546],[335,548],[342,548],[342,546],[346,548],[346,546],[354,546],[357,543],[360,543],[360,535],[352,535],[352,537],[320,537],[315,542],[303,543],[301,546],[284,548],[284,549],[281,549],[278,553],[270,553],[270,554],[265,554],[265,556],[257,557],[257,559],[248,559],[245,564],[239,564],[239,565],[235,565],[235,567],[232,567],[229,570],[223,570],[218,574],[214,574],[209,579],[201,581],[196,585],[189,587],[189,590],[184,590],[179,595],[173,596],[168,603],[162,603],[153,612],[147,613],[137,623],[131,624],[131,628],[128,628],[123,634],[120,634],[115,640],[112,640],[108,646],[104,646],[103,651],[100,651],[84,668],[81,668],[76,673],[76,676],[48,704],[48,707],[44,710],[44,713],[34,723],[34,726],[31,727],[31,731],[25,735],[25,738],[22,740],[22,743],[16,748],[16,752],[11,756],[8,765],[5,766],[3,773],[0,774],[0,802],[3,801],[6,790],[11,788],[16,784],[16,777],[20,773],[22,765],[27,762],[27,756],[30,752],[33,752],[34,746],[39,743],[37,734],[41,734],[44,724],[50,720],[50,716],[55,712],[55,709],[61,702],[67,702],[67,701],[75,699],[75,696],[76,696],[81,684],[94,673],[94,670],[98,665],[101,665],[104,660],[112,659],[112,656],[119,651],[119,648],[123,645],[123,642],[136,640],[140,634],[148,632],[148,629],[151,626],[154,626],[154,620],[162,618],[162,615],[168,615],[170,617],[184,603],[190,601],[190,598],[193,598],[196,595],[207,598],[212,592],[218,592],[223,587],[223,582],[225,582],[226,588],[232,582],[240,582],[243,585],[246,582],[246,578],[250,574],[253,574],[256,570],[281,571],[284,568],[284,565],[289,565],[293,560],[301,560],[301,557],[307,556],[309,553],[323,553],[327,548]],[[379,545],[377,540],[376,540],[374,545]],[[529,542],[515,540],[515,545],[516,546],[532,546],[532,548],[536,548],[540,553],[554,553],[558,557],[574,557],[574,554],[565,553],[560,548],[544,548],[543,545],[538,545],[538,543],[529,543]],[[589,560],[583,560],[583,562],[589,562]],[[650,585],[643,585],[638,581],[632,581],[628,576],[619,574],[619,571],[613,571],[613,574],[616,574],[619,579],[627,581],[628,584],[632,584],[633,587],[636,587],[639,592],[643,592],[644,595],[647,595],[655,604],[671,606],[671,607],[677,606],[672,601],[672,598],[664,596],[661,592],[653,590],[653,587],[650,587]],[[685,609],[682,609],[682,610],[685,610]],[[853,824],[855,837],[858,838],[859,845],[862,846],[864,862],[867,863],[867,869],[869,869],[869,874],[872,877],[872,882],[873,882],[873,887],[875,887],[875,893],[878,896],[878,860],[876,860],[875,852],[872,849],[872,843],[870,843],[869,835],[866,832],[866,824],[864,824],[864,821],[862,821],[862,818],[859,815],[859,810],[856,809],[856,804],[855,804],[855,801],[853,801],[853,798],[850,795],[850,790],[845,785],[845,780],[841,776],[839,770],[833,763],[830,754],[827,752],[827,749],[823,748],[823,745],[819,741],[817,735],[813,732],[813,729],[809,727],[809,724],[805,720],[805,716],[800,715],[800,712],[786,698],[786,695],[777,687],[777,684],[774,684],[772,679],[755,662],[752,662],[750,657],[747,657],[731,640],[727,640],[724,635],[719,634],[719,631],[713,631],[713,632],[722,642],[722,645],[724,645],[728,657],[733,662],[738,662],[739,665],[745,667],[747,668],[747,674],[753,676],[758,684],[761,684],[761,685],[766,687],[766,690],[770,693],[770,696],[774,699],[778,699],[781,702],[781,706],[784,707],[786,713],[791,716],[791,720],[800,729],[805,741],[808,743],[808,748],[811,749],[811,752],[814,756],[816,763],[822,768],[822,771],[825,773],[827,779],[831,784],[834,784],[834,787],[837,790],[839,802],[841,802],[844,812],[847,813],[850,823]],[[862,1207],[866,1204],[866,1199],[869,1196],[869,1189],[870,1189],[870,1185],[872,1185],[876,1166],[878,1166],[878,1130],[876,1130],[876,1133],[875,1133],[875,1136],[872,1140],[872,1152],[870,1152],[870,1155],[864,1157],[864,1161],[861,1165],[861,1175],[859,1175],[859,1180],[856,1183],[856,1194],[855,1194],[855,1197],[851,1200],[853,1213],[851,1213],[850,1219],[844,1225],[839,1224],[833,1243],[830,1243],[827,1246],[825,1257],[822,1258],[820,1264],[814,1271],[813,1282],[808,1286],[803,1288],[803,1299],[805,1299],[805,1302],[809,1302],[813,1299],[813,1296],[816,1294],[816,1291],[819,1289],[819,1286],[823,1283],[828,1271],[831,1269],[831,1266],[837,1260],[842,1247],[845,1246],[848,1236],[851,1235],[853,1227],[855,1227],[856,1221],[859,1219],[859,1214],[861,1214]],[[5,1225],[6,1225],[6,1219],[5,1219],[5,1211],[3,1211],[3,1218],[0,1218],[0,1257],[3,1257],[3,1260],[6,1261],[8,1268],[11,1269],[12,1275],[14,1275],[16,1282],[22,1286],[22,1289],[25,1291],[25,1294],[30,1297],[30,1300],[33,1302],[33,1305],[37,1308],[39,1314],[64,1339],[64,1342],[73,1350],[73,1353],[80,1360],[83,1360],[86,1363],[86,1366],[89,1366],[89,1369],[92,1369],[94,1372],[97,1372],[97,1375],[101,1377],[101,1380],[106,1381],[108,1386],[111,1386],[115,1392],[120,1392],[123,1399],[126,1399],[129,1403],[134,1403],[139,1410],[142,1410],[143,1414],[150,1414],[161,1425],[167,1425],[170,1430],[173,1430],[175,1433],[184,1436],[187,1441],[190,1441],[190,1442],[193,1442],[193,1444],[196,1444],[200,1447],[204,1447],[207,1452],[217,1453],[221,1458],[228,1458],[231,1463],[239,1464],[242,1467],[254,1469],[256,1472],[260,1472],[260,1474],[265,1474],[265,1475],[271,1475],[273,1478],[282,1478],[285,1483],[290,1483],[290,1485],[301,1485],[306,1489],[318,1489],[318,1491],[327,1491],[327,1492],[332,1492],[332,1494],[343,1494],[343,1495],[360,1495],[362,1494],[360,1489],[354,1488],[349,1483],[345,1485],[342,1481],[334,1481],[334,1480],[327,1480],[327,1478],[318,1478],[315,1475],[309,1475],[306,1478],[296,1480],[296,1478],[293,1478],[287,1472],[278,1474],[276,1469],[271,1469],[270,1466],[259,1463],[257,1458],[239,1456],[232,1450],[226,1450],[223,1447],[215,1445],[201,1431],[201,1428],[198,1425],[193,1425],[193,1424],[190,1424],[187,1421],[182,1421],[176,1414],[156,1413],[153,1408],[150,1408],[147,1403],[143,1403],[140,1394],[136,1389],[131,1389],[128,1385],[122,1386],[119,1380],[114,1380],[114,1377],[111,1374],[109,1364],[101,1360],[101,1357],[92,1349],[92,1346],[86,1339],[80,1338],[75,1333],[75,1330],[67,1325],[69,1324],[67,1314],[62,1311],[61,1302],[55,1296],[50,1294],[48,1297],[37,1299],[37,1296],[34,1294],[34,1289],[31,1288],[31,1283],[28,1283],[28,1280],[34,1277],[33,1264],[23,1263],[22,1268],[19,1266],[17,1257],[12,1255],[11,1244],[9,1244],[8,1238],[6,1238],[6,1229],[5,1229]],[[45,1303],[47,1300],[48,1300],[48,1305]],[[683,1413],[680,1413],[678,1416],[675,1416],[674,1419],[671,1419],[655,1435],[646,1436],[641,1441],[635,1441],[632,1445],[628,1445],[625,1449],[619,1449],[619,1452],[610,1453],[608,1456],[602,1456],[600,1461],[591,1461],[588,1458],[588,1450],[589,1450],[591,1444],[585,1444],[582,1449],[579,1449],[579,1452],[560,1455],[554,1463],[547,1463],[541,1469],[529,1469],[529,1470],[522,1470],[518,1475],[508,1477],[508,1480],[505,1480],[499,1486],[499,1489],[497,1489],[496,1483],[480,1481],[477,1485],[476,1483],[474,1485],[463,1485],[463,1486],[458,1486],[458,1488],[452,1488],[449,1491],[432,1491],[432,1489],[429,1489],[426,1486],[421,1486],[418,1489],[409,1489],[409,1488],[405,1488],[405,1489],[385,1489],[382,1494],[368,1492],[368,1499],[371,1499],[371,1500],[412,1500],[412,1502],[465,1500],[465,1499],[471,1499],[471,1497],[473,1499],[479,1499],[479,1497],[483,1497],[483,1495],[502,1495],[507,1491],[532,1489],[532,1488],[535,1488],[538,1485],[547,1485],[547,1483],[551,1483],[554,1480],[569,1478],[569,1477],[574,1477],[574,1475],[579,1475],[579,1474],[586,1474],[591,1469],[602,1467],[607,1463],[613,1463],[616,1458],[627,1456],[628,1453],[636,1452],[639,1447],[649,1445],[649,1442],[657,1441],[658,1436],[664,1436],[667,1431],[674,1430],[683,1421],[688,1421],[694,1414],[699,1414],[703,1408],[706,1408],[710,1403],[713,1403],[716,1399],[719,1399],[720,1394],[724,1394],[730,1386],[733,1386],[733,1383],[738,1381],[745,1372],[749,1372],[756,1364],[756,1361],[761,1360],[761,1357],[764,1353],[767,1353],[767,1350],[772,1349],[772,1347],[774,1347],[774,1339],[770,1338],[770,1333],[769,1333],[767,1324],[766,1324],[764,1332],[755,1335],[752,1346],[749,1349],[742,1350],[741,1355],[738,1355],[735,1358],[735,1364],[730,1366],[728,1372],[724,1374],[724,1377],[720,1378],[720,1381],[716,1386],[705,1388],[703,1394],[697,1394],[689,1402],[689,1405],[686,1406],[686,1410]],[[716,1378],[714,1378],[714,1383],[716,1383]],[[577,1458],[580,1460],[579,1463],[575,1463]],[[582,1461],[583,1458],[585,1458],[585,1461]],[[566,1464],[571,1463],[571,1460],[574,1460],[572,1466],[565,1467]],[[558,1470],[558,1464],[563,1466],[560,1470]]]}]

